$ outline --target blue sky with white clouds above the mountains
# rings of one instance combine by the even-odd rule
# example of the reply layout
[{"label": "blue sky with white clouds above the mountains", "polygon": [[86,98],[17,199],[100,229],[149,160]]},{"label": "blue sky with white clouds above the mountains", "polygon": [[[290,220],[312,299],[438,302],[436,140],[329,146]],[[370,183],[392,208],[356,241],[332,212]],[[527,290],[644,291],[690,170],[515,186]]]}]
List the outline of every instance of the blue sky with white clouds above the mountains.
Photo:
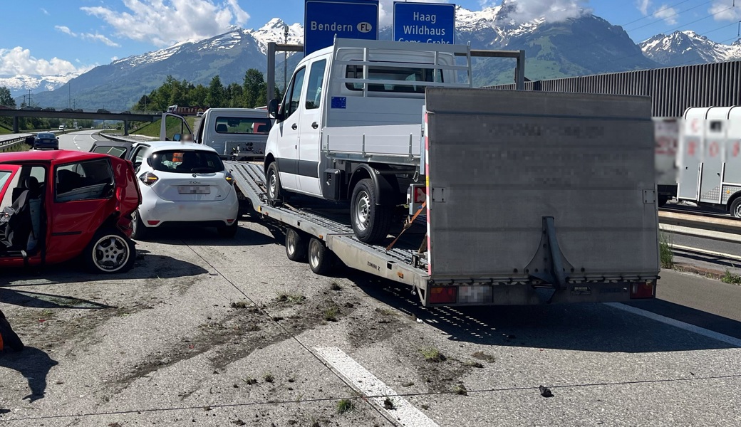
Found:
[{"label": "blue sky with white clouds above the mountains", "polygon": [[[427,0],[431,1],[431,0]],[[482,10],[502,0],[432,0]],[[714,41],[736,40],[741,0],[506,0],[522,18],[569,16],[588,9],[622,25],[634,41],[694,30]],[[380,0],[382,24],[393,0]],[[259,28],[272,18],[303,21],[304,0],[5,0],[0,76],[87,70],[187,39]]]}]

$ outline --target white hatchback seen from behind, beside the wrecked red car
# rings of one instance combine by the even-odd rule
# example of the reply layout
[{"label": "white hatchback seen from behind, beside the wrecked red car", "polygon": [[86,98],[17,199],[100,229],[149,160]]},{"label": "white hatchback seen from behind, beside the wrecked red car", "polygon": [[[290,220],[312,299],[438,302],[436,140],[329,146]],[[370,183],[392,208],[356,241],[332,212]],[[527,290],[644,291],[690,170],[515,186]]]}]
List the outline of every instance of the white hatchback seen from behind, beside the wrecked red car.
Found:
[{"label": "white hatchback seen from behind, beside the wrecked red car", "polygon": [[142,190],[131,237],[168,225],[215,226],[233,237],[239,229],[234,179],[216,150],[202,144],[158,141],[142,144],[131,157]]}]

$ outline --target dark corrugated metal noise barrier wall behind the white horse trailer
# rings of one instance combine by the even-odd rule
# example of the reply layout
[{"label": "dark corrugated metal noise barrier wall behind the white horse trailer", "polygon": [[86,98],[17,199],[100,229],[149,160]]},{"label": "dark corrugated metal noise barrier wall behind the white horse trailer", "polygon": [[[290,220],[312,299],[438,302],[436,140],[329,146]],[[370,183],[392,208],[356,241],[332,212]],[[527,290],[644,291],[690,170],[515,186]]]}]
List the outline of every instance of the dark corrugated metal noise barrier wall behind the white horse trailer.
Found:
[{"label": "dark corrugated metal noise barrier wall behind the white horse trailer", "polygon": [[525,90],[651,96],[654,117],[681,117],[688,107],[741,105],[741,61],[526,81]]}]

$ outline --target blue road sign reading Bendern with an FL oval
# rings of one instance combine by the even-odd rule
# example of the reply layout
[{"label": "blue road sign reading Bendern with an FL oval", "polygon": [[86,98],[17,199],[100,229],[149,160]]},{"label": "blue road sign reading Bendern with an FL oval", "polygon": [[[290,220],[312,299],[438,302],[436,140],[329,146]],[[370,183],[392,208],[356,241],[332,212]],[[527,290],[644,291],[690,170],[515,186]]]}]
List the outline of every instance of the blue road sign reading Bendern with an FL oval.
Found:
[{"label": "blue road sign reading Bendern with an FL oval", "polygon": [[306,0],[304,55],[331,46],[334,37],[378,39],[378,0]]}]

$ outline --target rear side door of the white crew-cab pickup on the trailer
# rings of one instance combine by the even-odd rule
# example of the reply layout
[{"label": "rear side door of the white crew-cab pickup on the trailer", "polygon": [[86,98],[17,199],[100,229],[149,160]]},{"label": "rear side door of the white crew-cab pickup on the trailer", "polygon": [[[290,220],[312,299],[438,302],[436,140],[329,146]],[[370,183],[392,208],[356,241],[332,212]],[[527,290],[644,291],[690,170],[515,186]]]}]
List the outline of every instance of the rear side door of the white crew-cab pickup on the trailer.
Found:
[{"label": "rear side door of the white crew-cab pickup on the trailer", "polygon": [[319,185],[319,151],[322,144],[322,84],[327,58],[319,58],[309,65],[306,97],[302,101],[299,124],[299,189],[312,195],[322,195]]}]

